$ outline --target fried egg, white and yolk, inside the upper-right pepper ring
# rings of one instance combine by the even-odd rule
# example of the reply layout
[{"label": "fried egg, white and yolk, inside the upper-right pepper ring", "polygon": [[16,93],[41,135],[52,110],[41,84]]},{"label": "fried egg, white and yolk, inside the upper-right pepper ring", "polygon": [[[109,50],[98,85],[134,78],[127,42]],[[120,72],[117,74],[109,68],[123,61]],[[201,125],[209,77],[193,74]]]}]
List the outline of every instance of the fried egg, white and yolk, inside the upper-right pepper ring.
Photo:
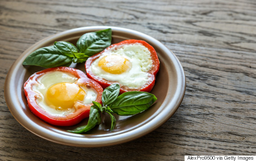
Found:
[{"label": "fried egg, white and yolk, inside the upper-right pepper ring", "polygon": [[145,85],[152,68],[151,53],[140,43],[123,44],[102,52],[91,64],[91,71],[98,78],[118,82],[130,89]]}]

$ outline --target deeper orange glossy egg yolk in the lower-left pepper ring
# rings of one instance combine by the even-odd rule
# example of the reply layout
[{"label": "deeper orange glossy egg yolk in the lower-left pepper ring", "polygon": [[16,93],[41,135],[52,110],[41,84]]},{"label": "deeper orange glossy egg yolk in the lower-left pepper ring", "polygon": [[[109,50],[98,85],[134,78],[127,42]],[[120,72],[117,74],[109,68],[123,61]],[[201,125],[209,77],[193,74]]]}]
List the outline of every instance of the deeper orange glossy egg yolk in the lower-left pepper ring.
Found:
[{"label": "deeper orange glossy egg yolk in the lower-left pepper ring", "polygon": [[66,110],[72,108],[77,101],[83,102],[85,95],[85,91],[75,83],[57,83],[49,87],[45,100],[56,110]]}]

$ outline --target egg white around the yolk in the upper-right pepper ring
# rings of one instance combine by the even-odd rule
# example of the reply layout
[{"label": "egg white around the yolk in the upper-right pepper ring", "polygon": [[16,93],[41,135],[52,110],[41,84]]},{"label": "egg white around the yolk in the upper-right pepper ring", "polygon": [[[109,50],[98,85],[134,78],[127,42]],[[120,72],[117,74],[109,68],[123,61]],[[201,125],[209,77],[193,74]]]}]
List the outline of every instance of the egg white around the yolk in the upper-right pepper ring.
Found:
[{"label": "egg white around the yolk in the upper-right pepper ring", "polygon": [[[98,66],[98,62],[105,56],[119,55],[131,63],[131,68],[122,74],[110,74],[102,70]],[[124,44],[122,46],[111,48],[103,52],[97,60],[91,64],[91,71],[99,78],[104,78],[108,81],[118,82],[122,86],[130,89],[139,89],[149,81],[147,73],[151,68],[153,61],[148,48],[142,44]]]}]

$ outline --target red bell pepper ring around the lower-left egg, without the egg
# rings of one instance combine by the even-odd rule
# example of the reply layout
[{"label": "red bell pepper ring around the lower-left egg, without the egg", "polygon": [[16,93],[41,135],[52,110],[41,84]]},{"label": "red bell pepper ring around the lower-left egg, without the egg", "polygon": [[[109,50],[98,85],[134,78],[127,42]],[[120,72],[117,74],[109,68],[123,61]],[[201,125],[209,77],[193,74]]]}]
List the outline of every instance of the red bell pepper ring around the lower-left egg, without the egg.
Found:
[{"label": "red bell pepper ring around the lower-left egg, without the egg", "polygon": [[[62,71],[66,72],[68,74],[72,74],[75,77],[77,77],[77,83],[79,84],[85,84],[86,86],[94,88],[95,91],[97,91],[97,98],[96,102],[102,103],[102,87],[95,82],[94,80],[88,78],[84,72],[81,70],[77,70],[74,68],[69,67],[56,67],[56,68],[49,68],[42,70],[40,72],[37,72],[35,74],[32,74],[31,77],[24,83],[24,92],[25,96],[27,98],[28,107],[31,110],[32,113],[34,113],[37,117],[40,117],[45,122],[48,122],[52,125],[57,126],[72,126],[80,121],[82,121],[84,118],[89,117],[90,107],[93,105],[91,104],[84,104],[81,108],[77,109],[73,113],[69,113],[65,116],[57,116],[53,115],[44,109],[42,109],[36,102],[36,95],[38,95],[37,92],[33,91],[33,85],[37,83],[37,79],[40,78],[42,75],[53,72],[53,71]],[[38,83],[37,83],[38,84]]]}]

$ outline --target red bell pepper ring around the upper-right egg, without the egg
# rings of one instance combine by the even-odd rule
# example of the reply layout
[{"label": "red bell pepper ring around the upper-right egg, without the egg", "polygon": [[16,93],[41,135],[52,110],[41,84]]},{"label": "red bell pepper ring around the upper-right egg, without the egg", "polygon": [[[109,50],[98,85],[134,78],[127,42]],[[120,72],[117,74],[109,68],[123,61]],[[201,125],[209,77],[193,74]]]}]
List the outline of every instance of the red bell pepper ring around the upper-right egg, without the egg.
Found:
[{"label": "red bell pepper ring around the upper-right egg, without the egg", "polygon": [[146,91],[146,92],[150,92],[152,90],[152,88],[154,87],[155,77],[156,77],[156,74],[159,71],[159,66],[160,65],[159,65],[159,59],[158,59],[157,53],[154,50],[154,48],[150,44],[146,43],[143,40],[136,40],[136,39],[124,40],[120,43],[112,44],[108,48],[103,50],[102,52],[99,52],[99,53],[93,55],[92,57],[89,57],[88,60],[85,62],[85,70],[86,70],[87,76],[89,78],[92,78],[93,80],[97,81],[97,83],[99,83],[104,89],[106,87],[110,86],[111,84],[116,83],[116,82],[108,81],[104,78],[97,77],[95,74],[93,74],[90,66],[93,63],[93,61],[95,61],[97,58],[99,58],[101,56],[101,54],[103,52],[106,52],[107,50],[110,50],[111,48],[115,48],[115,47],[118,47],[119,45],[124,45],[124,44],[127,44],[127,45],[128,44],[142,44],[143,46],[145,46],[146,48],[149,49],[149,51],[151,53],[150,56],[151,56],[151,59],[152,59],[153,63],[152,63],[151,70],[148,71],[148,73],[150,75],[149,76],[150,81],[148,81],[140,89],[130,89],[128,87],[120,85],[120,93],[124,93],[126,91]]}]

